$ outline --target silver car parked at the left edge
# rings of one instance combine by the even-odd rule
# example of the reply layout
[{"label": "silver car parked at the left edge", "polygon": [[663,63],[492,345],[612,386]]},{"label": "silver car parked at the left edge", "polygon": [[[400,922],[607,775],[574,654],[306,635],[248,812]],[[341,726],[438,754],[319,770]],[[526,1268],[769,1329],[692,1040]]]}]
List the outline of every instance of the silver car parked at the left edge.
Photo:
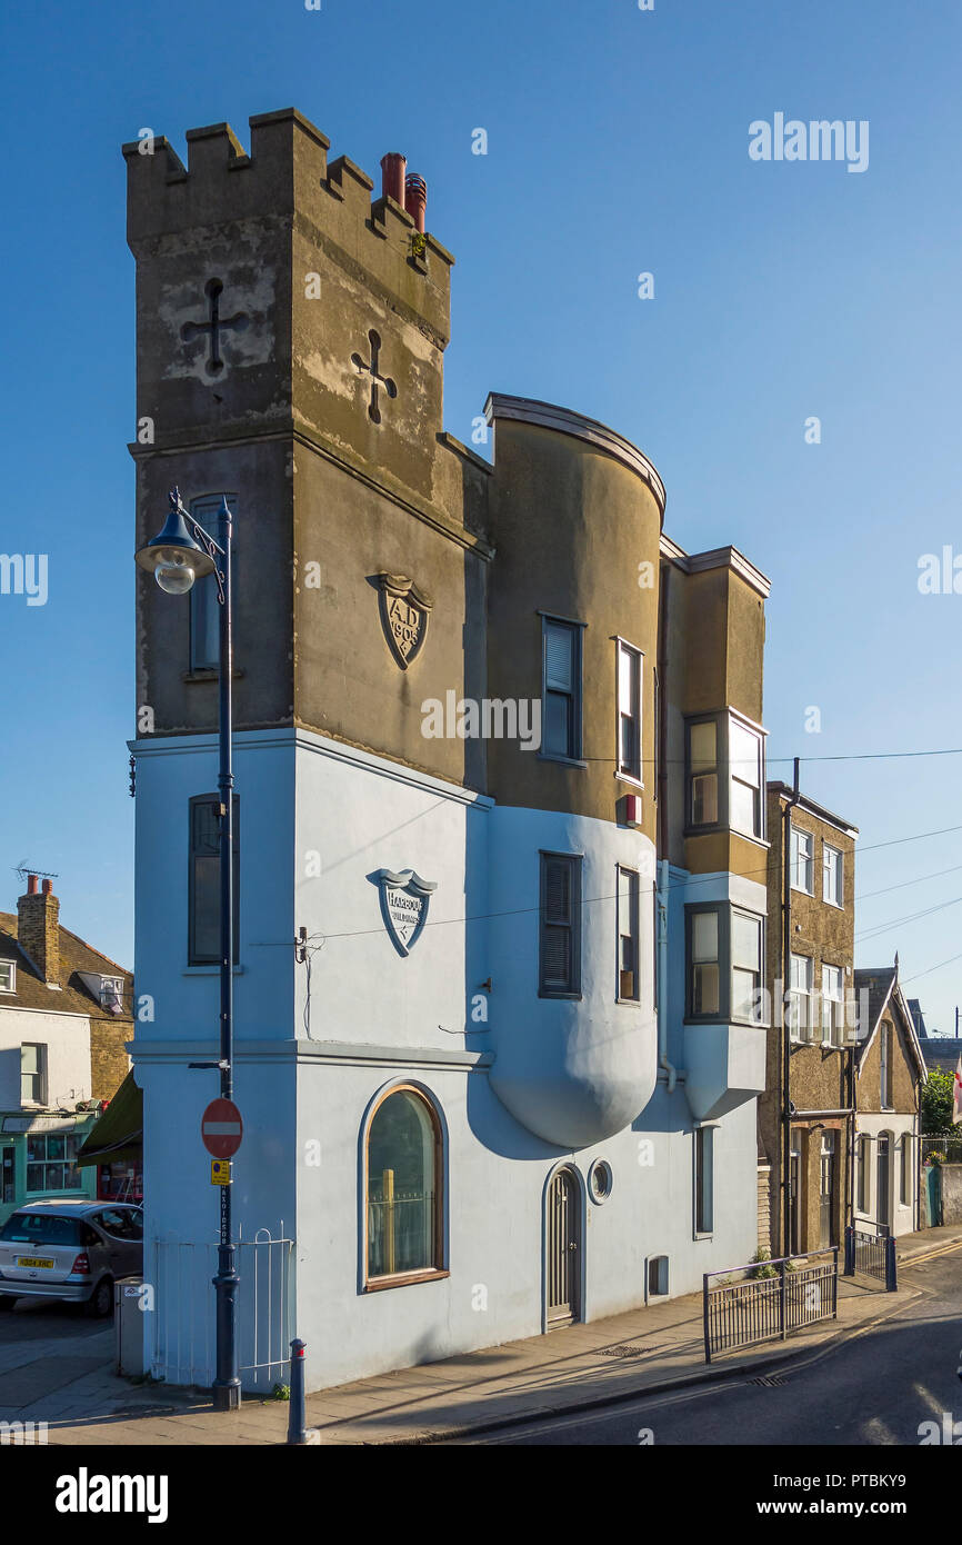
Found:
[{"label": "silver car parked at the left edge", "polygon": [[0,1309],[59,1298],[110,1315],[113,1284],[144,1264],[144,1213],[125,1202],[28,1202],[0,1228]]}]

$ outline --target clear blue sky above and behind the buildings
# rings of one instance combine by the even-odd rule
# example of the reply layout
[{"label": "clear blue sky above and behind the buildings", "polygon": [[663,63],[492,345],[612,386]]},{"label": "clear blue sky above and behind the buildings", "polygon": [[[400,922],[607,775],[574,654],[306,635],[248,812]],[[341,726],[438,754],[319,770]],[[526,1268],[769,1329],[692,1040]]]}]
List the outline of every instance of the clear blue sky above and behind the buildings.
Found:
[{"label": "clear blue sky above and behind the buildings", "polygon": [[[0,552],[49,558],[46,606],[0,596],[0,908],[20,861],[54,870],[63,921],[131,961],[120,144],[144,127],[185,154],[187,128],[227,119],[249,144],[250,114],[295,105],[371,175],[406,153],[457,256],[446,426],[469,439],[491,388],[602,419],[653,459],[676,541],[733,542],[771,576],[771,776],[962,745],[962,595],[917,587],[923,553],[962,555],[957,0],[46,0],[0,29]],[[868,119],[868,170],[750,161],[775,113]],[[962,830],[877,847],[962,827],[960,774],[803,766],[862,830],[859,891],[900,887],[860,933],[962,898]],[[930,967],[962,953],[960,922],[962,902],[903,922],[859,963],[897,947],[948,1031],[962,961]]]}]

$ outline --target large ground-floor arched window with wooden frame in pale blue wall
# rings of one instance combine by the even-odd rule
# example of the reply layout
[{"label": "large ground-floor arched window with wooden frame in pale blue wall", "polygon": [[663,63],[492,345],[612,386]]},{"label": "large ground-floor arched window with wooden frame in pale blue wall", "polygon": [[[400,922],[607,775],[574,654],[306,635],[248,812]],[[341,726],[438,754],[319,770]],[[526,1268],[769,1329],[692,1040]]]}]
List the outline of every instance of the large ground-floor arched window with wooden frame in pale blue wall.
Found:
[{"label": "large ground-floor arched window with wooden frame in pale blue wall", "polygon": [[420,1089],[391,1089],[368,1128],[368,1287],[418,1281],[443,1270],[442,1191],[437,1112]]}]

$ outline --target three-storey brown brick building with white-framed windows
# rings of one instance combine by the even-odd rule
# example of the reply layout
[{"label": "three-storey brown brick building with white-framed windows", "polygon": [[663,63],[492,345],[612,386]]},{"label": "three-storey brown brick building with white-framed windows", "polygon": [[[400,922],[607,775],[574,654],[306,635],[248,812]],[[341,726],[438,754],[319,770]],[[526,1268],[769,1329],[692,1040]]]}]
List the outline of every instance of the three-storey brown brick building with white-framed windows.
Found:
[{"label": "three-storey brown brick building with white-framed windows", "polygon": [[767,806],[772,1014],[758,1132],[763,1242],[783,1256],[842,1247],[851,1219],[857,828],[786,783],[769,783]]}]

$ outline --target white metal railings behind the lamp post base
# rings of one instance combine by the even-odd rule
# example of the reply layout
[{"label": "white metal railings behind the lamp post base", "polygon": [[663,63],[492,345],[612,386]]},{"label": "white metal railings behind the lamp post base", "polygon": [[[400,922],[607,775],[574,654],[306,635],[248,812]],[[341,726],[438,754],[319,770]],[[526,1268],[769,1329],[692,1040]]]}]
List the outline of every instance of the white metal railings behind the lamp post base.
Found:
[{"label": "white metal railings behind the lamp post base", "polygon": [[[236,1335],[241,1384],[270,1392],[281,1380],[292,1332],[293,1239],[258,1228],[238,1231]],[[216,1244],[167,1238],[153,1242],[154,1312],[150,1372],[168,1384],[207,1386],[215,1378]]]}]

